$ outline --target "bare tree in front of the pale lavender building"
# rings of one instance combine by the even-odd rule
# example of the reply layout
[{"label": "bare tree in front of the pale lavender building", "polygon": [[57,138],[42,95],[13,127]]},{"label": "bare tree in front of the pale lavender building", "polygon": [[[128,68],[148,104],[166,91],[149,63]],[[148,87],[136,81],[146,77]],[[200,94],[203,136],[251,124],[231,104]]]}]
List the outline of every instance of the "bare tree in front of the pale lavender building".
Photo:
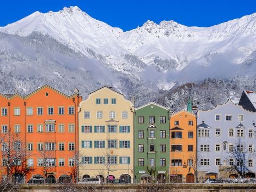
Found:
[{"label": "bare tree in front of the pale lavender building", "polygon": [[233,148],[229,151],[229,158],[233,159],[231,167],[235,170],[240,178],[245,178],[246,173],[249,171],[249,161],[256,156],[253,148],[248,148],[245,143],[238,140]]}]

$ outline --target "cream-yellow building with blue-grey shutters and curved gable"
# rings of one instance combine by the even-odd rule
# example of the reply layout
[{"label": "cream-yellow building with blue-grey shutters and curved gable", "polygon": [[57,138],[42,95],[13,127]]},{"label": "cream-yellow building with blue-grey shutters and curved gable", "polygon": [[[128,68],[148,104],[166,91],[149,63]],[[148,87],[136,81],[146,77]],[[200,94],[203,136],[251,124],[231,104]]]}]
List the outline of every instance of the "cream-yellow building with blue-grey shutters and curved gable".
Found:
[{"label": "cream-yellow building with blue-grey shutters and curved gable", "polygon": [[[79,177],[129,183],[133,178],[133,111],[131,101],[108,87],[80,103]],[[120,179],[114,180],[114,179]]]}]

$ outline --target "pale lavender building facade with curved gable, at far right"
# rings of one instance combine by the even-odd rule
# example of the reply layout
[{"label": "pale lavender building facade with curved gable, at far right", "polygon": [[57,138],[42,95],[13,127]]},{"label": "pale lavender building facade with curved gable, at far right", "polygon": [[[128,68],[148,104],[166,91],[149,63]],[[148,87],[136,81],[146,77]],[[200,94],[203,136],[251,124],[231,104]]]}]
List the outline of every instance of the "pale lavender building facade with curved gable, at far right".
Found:
[{"label": "pale lavender building facade with curved gable, at far right", "polygon": [[[256,113],[228,100],[212,110],[199,110],[197,115],[199,179],[237,178],[243,173],[255,178]],[[232,151],[243,153],[244,158],[237,157]],[[234,165],[244,165],[248,170],[241,166],[237,171]]]}]

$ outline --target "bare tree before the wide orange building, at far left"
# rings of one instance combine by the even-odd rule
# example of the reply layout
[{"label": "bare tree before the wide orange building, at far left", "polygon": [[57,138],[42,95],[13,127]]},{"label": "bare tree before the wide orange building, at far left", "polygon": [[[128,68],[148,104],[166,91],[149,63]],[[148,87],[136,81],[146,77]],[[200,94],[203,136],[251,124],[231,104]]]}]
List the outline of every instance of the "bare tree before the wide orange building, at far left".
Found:
[{"label": "bare tree before the wide orange building, at far left", "polygon": [[[3,130],[2,130],[3,131]],[[6,167],[7,179],[11,180],[12,175],[23,174],[26,176],[32,170],[27,168],[26,162],[30,157],[26,150],[26,144],[18,133],[13,133],[12,128],[0,133],[0,144],[2,153],[2,163]],[[18,182],[15,180],[15,182]]]}]

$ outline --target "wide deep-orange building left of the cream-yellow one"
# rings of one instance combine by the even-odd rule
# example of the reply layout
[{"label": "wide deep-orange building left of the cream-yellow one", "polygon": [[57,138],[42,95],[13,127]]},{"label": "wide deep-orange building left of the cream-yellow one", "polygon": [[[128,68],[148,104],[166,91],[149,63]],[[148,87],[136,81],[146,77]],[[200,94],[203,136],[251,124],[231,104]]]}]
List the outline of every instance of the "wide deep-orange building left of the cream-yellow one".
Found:
[{"label": "wide deep-orange building left of the cream-yellow one", "polygon": [[[74,176],[74,154],[78,149],[77,105],[81,99],[77,89],[68,96],[47,85],[25,97],[17,90],[15,94],[0,94],[0,138],[7,139],[6,146],[10,149],[16,150],[20,145],[16,151],[26,158],[24,162],[15,160],[17,168],[13,166],[10,171],[16,183],[41,183],[43,179],[54,183]],[[17,145],[17,141],[21,144]],[[6,177],[7,157],[4,150],[1,153],[1,176]]]}]

